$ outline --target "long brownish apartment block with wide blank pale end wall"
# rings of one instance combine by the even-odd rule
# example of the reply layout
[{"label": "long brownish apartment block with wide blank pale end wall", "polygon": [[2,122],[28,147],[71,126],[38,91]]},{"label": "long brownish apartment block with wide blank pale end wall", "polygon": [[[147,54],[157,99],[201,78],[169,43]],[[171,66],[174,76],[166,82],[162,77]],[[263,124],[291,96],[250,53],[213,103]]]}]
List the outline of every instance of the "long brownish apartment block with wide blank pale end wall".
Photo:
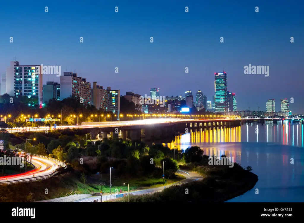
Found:
[{"label": "long brownish apartment block with wide blank pale end wall", "polygon": [[85,106],[91,104],[91,83],[85,78],[78,77],[77,73],[64,72],[60,76],[60,100],[68,97],[82,99]]}]

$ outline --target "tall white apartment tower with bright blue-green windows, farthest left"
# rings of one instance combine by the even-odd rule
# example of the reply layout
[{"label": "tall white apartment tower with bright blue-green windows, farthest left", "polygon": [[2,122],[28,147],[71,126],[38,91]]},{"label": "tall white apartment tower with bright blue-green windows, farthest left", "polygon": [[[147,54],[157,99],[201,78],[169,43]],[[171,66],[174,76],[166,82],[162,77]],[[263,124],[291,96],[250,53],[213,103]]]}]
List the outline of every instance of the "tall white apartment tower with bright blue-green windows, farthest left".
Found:
[{"label": "tall white apartment tower with bright blue-green windows, farthest left", "polygon": [[[37,68],[37,69],[36,69]],[[32,100],[32,105],[42,105],[42,73],[40,65],[20,65],[11,61],[6,74],[2,74],[1,94],[7,93],[15,97],[26,96]]]}]

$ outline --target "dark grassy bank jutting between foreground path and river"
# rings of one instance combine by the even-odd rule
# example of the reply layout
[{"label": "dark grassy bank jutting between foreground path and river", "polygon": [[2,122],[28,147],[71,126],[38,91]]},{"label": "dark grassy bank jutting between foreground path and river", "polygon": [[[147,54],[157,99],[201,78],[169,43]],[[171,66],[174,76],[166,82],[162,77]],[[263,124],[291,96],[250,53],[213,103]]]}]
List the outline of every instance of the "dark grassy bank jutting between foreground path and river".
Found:
[{"label": "dark grassy bank jutting between foreground path and river", "polygon": [[[202,181],[172,186],[152,195],[130,195],[129,202],[224,202],[254,188],[257,175],[238,164],[228,166],[181,166],[202,174]],[[127,202],[127,197],[107,202]]]}]

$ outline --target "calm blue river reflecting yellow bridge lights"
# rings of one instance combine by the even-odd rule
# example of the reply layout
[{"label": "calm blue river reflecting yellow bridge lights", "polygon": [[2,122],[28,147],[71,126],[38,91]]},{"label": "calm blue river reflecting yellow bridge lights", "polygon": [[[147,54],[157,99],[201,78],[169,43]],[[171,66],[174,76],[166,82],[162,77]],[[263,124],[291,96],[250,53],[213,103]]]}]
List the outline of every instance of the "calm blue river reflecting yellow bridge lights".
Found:
[{"label": "calm blue river reflecting yellow bridge lights", "polygon": [[225,154],[243,167],[251,166],[257,184],[227,202],[304,202],[303,127],[288,122],[249,123],[181,134],[163,145],[183,150],[199,146],[206,155]]}]

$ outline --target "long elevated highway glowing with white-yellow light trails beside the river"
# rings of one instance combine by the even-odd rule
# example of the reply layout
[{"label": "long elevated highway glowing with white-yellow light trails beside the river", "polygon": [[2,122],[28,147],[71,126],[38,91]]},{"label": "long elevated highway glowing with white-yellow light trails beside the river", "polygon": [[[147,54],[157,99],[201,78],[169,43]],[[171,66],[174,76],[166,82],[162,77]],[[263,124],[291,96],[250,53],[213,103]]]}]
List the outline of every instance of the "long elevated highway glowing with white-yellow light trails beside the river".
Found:
[{"label": "long elevated highway glowing with white-yellow light trails beside the river", "polygon": [[[115,121],[115,122],[100,122],[98,124],[91,124],[91,125],[73,125],[73,126],[57,126],[56,129],[67,129],[67,128],[98,128],[98,127],[120,127],[120,126],[133,126],[133,125],[151,125],[151,124],[158,124],[158,123],[176,123],[181,121],[193,121],[193,120],[203,120],[203,119],[179,119],[179,118],[158,118],[158,119],[143,119],[143,120],[134,120],[134,121]],[[210,120],[210,121],[223,121],[229,119],[217,119],[217,120]],[[233,119],[235,120],[235,119]],[[36,131],[50,131],[53,127],[24,127],[24,128],[7,128],[6,130],[9,133],[17,133],[17,132],[36,132]]]}]

